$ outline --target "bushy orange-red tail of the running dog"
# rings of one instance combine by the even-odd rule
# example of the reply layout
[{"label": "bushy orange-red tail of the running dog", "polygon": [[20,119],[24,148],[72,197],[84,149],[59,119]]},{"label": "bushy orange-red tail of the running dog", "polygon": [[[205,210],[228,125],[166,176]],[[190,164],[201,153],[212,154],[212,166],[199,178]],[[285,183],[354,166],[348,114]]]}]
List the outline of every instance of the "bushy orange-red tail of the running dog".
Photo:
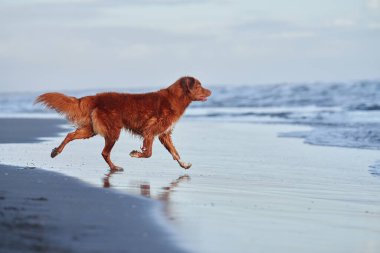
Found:
[{"label": "bushy orange-red tail of the running dog", "polygon": [[62,93],[52,92],[45,93],[36,98],[35,104],[41,103],[47,108],[53,109],[56,112],[63,114],[74,124],[81,125],[85,114],[80,108],[80,100],[76,97],[69,97]]}]

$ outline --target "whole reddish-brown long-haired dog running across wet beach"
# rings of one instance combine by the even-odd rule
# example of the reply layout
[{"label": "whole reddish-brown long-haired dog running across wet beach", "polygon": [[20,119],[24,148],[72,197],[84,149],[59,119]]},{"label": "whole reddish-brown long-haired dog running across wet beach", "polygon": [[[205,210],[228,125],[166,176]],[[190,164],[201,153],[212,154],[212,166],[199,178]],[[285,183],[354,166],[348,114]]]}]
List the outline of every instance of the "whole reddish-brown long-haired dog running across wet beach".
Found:
[{"label": "whole reddish-brown long-haired dog running across wet beach", "polygon": [[82,98],[68,97],[61,93],[45,93],[36,103],[66,115],[77,129],[67,134],[61,145],[54,148],[51,157],[62,152],[67,143],[76,139],[87,139],[100,134],[105,139],[102,151],[104,160],[112,171],[122,170],[110,158],[111,149],[125,128],[144,139],[140,151],[130,156],[148,158],[152,155],[152,144],[156,136],[182,168],[191,163],[181,161],[175,149],[171,133],[192,101],[206,101],[211,91],[201,86],[193,77],[182,77],[166,89],[145,94],[106,92]]}]

